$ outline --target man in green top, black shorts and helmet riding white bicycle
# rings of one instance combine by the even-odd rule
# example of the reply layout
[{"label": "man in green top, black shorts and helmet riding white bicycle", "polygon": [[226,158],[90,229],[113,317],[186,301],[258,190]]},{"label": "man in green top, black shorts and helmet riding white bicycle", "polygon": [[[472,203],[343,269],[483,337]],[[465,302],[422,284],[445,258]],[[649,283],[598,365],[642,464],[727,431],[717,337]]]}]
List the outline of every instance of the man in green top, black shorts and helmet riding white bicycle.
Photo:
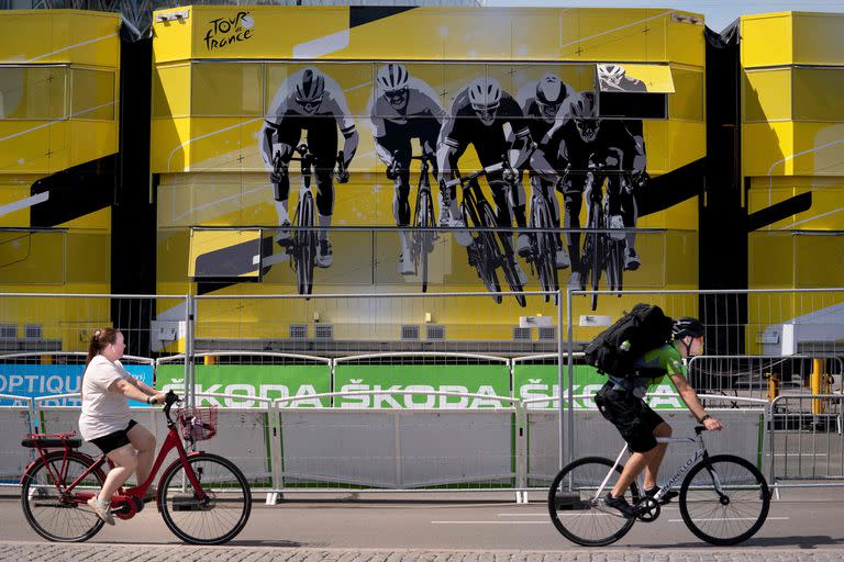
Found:
[{"label": "man in green top, black shorts and helmet riding white bicycle", "polygon": [[[654,379],[665,374],[670,376],[684,403],[700,424],[711,431],[719,431],[722,427],[718,419],[703,409],[695,389],[686,379],[682,361],[703,352],[703,325],[697,318],[677,318],[671,335],[669,344],[636,359],[633,362],[634,372],[630,376],[610,376],[595,396],[601,415],[615,426],[631,451],[624,471],[604,501],[626,518],[636,517],[637,509],[624,499],[624,493],[643,470],[645,497],[653,497],[659,491],[656,477],[667,443],[657,443],[656,438],[671,436],[671,427],[644,401],[647,386]],[[668,503],[676,496],[676,492],[669,492],[659,503]]]}]

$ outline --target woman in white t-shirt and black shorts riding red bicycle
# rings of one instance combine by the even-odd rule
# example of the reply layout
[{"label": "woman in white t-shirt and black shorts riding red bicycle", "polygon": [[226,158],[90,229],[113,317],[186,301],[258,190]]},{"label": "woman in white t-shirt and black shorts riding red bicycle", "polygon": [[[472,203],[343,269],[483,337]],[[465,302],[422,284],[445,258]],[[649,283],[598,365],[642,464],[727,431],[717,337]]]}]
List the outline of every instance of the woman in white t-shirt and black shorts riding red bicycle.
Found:
[{"label": "woman in white t-shirt and black shorts riding red bicycle", "polygon": [[[165,394],[132,376],[120,362],[125,349],[123,334],[114,328],[100,328],[88,345],[88,359],[82,373],[82,413],[79,432],[102,450],[114,463],[98,496],[88,501],[97,516],[114,525],[111,496],[133,474],[144,482],[155,456],[155,436],[130,417],[129,400],[147,404],[163,403]],[[153,486],[145,499],[155,497]]]}]

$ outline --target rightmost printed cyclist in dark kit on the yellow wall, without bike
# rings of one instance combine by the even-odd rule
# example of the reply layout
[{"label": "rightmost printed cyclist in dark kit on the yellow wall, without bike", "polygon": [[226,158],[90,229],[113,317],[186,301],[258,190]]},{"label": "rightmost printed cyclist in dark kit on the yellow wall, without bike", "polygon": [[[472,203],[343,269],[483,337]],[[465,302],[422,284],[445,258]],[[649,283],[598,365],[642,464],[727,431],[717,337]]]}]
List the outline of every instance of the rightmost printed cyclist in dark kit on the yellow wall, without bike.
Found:
[{"label": "rightmost printed cyclist in dark kit on the yellow wall, without bike", "polygon": [[[636,270],[641,260],[635,250],[635,232],[638,213],[635,191],[647,182],[645,171],[645,142],[641,120],[598,119],[595,92],[585,91],[574,95],[566,103],[566,119],[558,121],[543,139],[544,145],[559,135],[559,158],[566,162],[562,180],[565,198],[565,227],[580,228],[580,209],[584,189],[589,173],[598,176],[595,186],[609,179],[608,196],[610,206],[609,227],[615,229],[611,236],[625,239],[624,269]],[[600,193],[593,193],[600,196]],[[626,232],[624,231],[626,229]],[[582,263],[580,259],[580,234],[567,233],[568,254],[571,260],[569,284],[582,286]]]}]

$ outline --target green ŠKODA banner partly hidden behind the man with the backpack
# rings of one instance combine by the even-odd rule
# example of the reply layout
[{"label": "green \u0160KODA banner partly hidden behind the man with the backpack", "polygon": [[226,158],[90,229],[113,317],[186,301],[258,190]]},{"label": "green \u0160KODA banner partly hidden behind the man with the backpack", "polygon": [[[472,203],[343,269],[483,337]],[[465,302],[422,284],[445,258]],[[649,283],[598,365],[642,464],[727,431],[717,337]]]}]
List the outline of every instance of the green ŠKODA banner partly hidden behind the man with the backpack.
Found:
[{"label": "green \u0160KODA banner partly hidden behind the man with the backpack", "polygon": [[[586,364],[574,366],[574,395],[592,396],[607,382],[607,375],[600,374],[595,367]],[[563,396],[568,395],[568,366],[563,366]],[[521,400],[551,398],[559,395],[557,366],[556,364],[526,364],[517,362],[513,367],[513,389],[515,397]],[[656,381],[647,391],[653,396],[647,403],[654,409],[675,409],[685,407],[680,398],[676,396],[660,396],[660,394],[676,394],[670,379],[667,376]],[[568,406],[564,402],[564,406]],[[528,404],[529,408],[556,408],[557,401],[537,401]],[[591,398],[575,398],[575,408],[595,408]]]}]

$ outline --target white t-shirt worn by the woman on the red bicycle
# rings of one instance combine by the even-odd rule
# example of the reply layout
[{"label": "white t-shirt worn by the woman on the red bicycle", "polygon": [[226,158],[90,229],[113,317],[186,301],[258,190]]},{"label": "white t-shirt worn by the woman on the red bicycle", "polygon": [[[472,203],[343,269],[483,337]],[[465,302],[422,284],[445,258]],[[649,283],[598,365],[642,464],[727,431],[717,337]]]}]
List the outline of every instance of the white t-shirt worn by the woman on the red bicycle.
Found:
[{"label": "white t-shirt worn by the woman on the red bicycle", "polygon": [[121,379],[132,384],[137,382],[120,361],[112,363],[106,356],[99,355],[88,363],[82,375],[82,414],[79,416],[79,432],[86,441],[129,425],[129,400],[120,392],[109,391],[109,386]]}]

